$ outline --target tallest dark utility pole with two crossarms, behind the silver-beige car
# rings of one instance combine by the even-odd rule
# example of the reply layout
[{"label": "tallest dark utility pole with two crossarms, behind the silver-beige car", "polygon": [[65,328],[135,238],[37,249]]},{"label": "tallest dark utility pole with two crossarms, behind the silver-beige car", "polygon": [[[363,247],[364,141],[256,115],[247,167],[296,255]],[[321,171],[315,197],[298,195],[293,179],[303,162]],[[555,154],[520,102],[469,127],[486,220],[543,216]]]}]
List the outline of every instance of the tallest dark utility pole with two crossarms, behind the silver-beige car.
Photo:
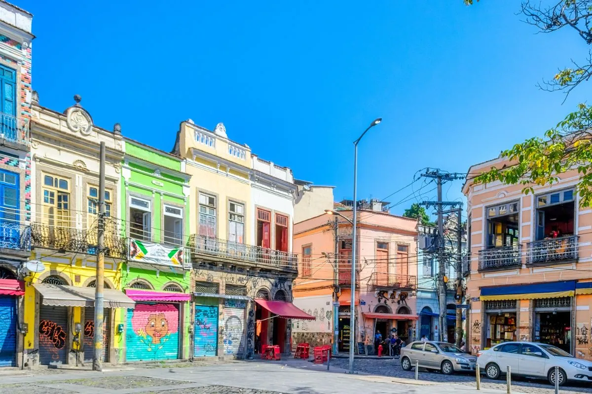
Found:
[{"label": "tallest dark utility pole with two crossarms, behind the silver-beige car", "polygon": [[448,341],[448,333],[446,332],[446,262],[444,259],[444,218],[443,218],[443,206],[456,206],[461,204],[459,201],[442,201],[442,183],[446,181],[452,181],[455,179],[462,179],[464,178],[461,174],[450,174],[448,172],[440,172],[440,170],[432,170],[428,168],[422,177],[426,178],[433,178],[437,181],[437,190],[438,190],[438,200],[437,201],[423,201],[421,204],[430,207],[435,206],[437,209],[438,215],[438,242],[437,242],[437,258],[438,258],[438,278],[437,278],[437,292],[438,292],[438,301],[439,301],[439,319],[438,323],[440,325],[439,330],[439,340],[446,342]]}]

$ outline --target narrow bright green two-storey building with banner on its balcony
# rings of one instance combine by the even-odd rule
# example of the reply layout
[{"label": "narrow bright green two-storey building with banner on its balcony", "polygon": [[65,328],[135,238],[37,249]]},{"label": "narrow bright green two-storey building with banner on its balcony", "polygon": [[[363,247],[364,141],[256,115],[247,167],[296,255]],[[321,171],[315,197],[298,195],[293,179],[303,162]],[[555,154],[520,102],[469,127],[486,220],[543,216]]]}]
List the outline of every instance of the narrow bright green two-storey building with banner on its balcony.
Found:
[{"label": "narrow bright green two-storey building with banner on its balcony", "polygon": [[190,353],[189,178],[185,161],[124,138],[120,212],[128,238],[121,289],[120,361],[186,359]]}]

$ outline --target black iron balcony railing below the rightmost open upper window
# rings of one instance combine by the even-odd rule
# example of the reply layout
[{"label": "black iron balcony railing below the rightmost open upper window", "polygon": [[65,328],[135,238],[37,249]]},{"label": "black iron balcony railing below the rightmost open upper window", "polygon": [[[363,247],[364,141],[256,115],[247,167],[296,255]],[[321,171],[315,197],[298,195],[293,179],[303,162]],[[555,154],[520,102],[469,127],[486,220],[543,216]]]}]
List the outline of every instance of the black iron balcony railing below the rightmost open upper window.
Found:
[{"label": "black iron balcony railing below the rightmost open upper window", "polygon": [[577,235],[545,239],[527,243],[527,263],[534,265],[554,264],[578,259]]}]

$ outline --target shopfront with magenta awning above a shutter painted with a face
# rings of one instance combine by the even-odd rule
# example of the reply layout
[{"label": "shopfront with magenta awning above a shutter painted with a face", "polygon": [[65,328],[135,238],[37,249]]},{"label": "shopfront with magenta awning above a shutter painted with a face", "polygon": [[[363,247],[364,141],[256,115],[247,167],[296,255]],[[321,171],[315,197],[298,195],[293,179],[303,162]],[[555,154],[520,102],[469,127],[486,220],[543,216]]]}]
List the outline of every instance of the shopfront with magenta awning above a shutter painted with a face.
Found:
[{"label": "shopfront with magenta awning above a shutter painted with a face", "polygon": [[126,360],[181,359],[179,333],[184,332],[184,303],[191,294],[126,289],[126,295],[136,301],[127,310]]}]

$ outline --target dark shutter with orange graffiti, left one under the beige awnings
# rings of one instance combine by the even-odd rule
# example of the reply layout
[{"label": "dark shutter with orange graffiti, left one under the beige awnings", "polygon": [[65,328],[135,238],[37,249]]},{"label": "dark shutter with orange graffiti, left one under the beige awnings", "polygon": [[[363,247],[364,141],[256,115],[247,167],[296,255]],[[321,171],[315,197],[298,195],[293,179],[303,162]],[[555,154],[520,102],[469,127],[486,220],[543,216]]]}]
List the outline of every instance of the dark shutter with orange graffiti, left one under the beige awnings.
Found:
[{"label": "dark shutter with orange graffiti, left one under the beige awnings", "polygon": [[67,341],[66,307],[41,305],[39,308],[39,363],[66,363]]}]

